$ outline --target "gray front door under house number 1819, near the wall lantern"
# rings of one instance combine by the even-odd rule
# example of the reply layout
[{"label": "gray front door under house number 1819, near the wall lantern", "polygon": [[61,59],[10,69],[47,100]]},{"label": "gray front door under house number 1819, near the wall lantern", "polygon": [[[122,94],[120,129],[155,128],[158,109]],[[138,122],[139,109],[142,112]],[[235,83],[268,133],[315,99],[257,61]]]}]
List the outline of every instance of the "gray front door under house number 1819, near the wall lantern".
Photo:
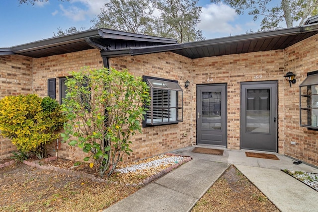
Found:
[{"label": "gray front door under house number 1819, near the wall lantern", "polygon": [[241,83],[242,149],[277,152],[277,82]]}]

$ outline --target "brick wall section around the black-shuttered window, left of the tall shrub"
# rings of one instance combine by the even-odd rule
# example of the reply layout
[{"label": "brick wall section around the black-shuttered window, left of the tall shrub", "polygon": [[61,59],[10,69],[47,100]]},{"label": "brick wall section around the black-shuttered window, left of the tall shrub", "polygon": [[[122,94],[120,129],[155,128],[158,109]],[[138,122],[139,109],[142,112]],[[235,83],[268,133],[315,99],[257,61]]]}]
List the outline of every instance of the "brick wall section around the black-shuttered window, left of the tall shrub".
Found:
[{"label": "brick wall section around the black-shuttered window, left of the tall shrub", "polygon": [[[103,68],[100,52],[96,49],[33,59],[33,90],[41,97],[48,95],[48,78],[56,78],[56,100],[59,101],[59,78],[70,76],[71,71],[80,71],[88,66],[91,69]],[[56,155],[54,141],[47,145],[48,153]],[[58,156],[73,160],[82,160],[85,155],[79,148],[71,147],[67,143],[59,141]]]}]

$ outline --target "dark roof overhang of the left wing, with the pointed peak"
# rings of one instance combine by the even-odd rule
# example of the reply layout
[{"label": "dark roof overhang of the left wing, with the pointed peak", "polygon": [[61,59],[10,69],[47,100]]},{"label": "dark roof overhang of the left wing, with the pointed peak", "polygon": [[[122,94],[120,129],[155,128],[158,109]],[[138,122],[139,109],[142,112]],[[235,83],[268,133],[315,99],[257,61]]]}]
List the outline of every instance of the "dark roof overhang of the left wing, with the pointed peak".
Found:
[{"label": "dark roof overhang of the left wing, with the pointed peak", "polygon": [[175,44],[170,38],[147,36],[110,29],[92,29],[65,36],[53,37],[32,43],[9,48],[14,54],[33,58],[60,55],[87,49],[112,49],[113,46],[125,45],[148,46],[161,44]]}]

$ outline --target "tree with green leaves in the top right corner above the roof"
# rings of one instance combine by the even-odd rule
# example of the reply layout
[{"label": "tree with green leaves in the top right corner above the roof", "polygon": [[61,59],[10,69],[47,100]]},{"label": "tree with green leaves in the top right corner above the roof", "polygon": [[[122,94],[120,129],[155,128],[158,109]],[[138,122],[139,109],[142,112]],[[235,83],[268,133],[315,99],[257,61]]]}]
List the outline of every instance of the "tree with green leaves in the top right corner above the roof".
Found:
[{"label": "tree with green leaves in the top right corner above the roof", "polygon": [[253,20],[263,16],[261,31],[282,28],[282,21],[285,21],[287,27],[293,27],[294,21],[303,25],[308,17],[318,13],[318,0],[281,0],[273,7],[269,4],[276,0],[211,0],[213,3],[221,1],[232,6],[238,14],[248,10],[248,14],[253,15]]}]

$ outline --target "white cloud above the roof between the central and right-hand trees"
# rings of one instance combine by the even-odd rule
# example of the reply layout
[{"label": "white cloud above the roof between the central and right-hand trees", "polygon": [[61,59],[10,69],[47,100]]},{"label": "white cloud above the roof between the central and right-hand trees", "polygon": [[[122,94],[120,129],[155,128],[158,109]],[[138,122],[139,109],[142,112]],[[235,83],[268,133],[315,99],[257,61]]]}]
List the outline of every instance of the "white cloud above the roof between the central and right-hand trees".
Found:
[{"label": "white cloud above the roof between the central and right-hand trees", "polygon": [[226,4],[207,4],[202,7],[201,22],[198,24],[198,28],[208,39],[208,35],[213,34],[221,33],[227,36],[241,34],[238,33],[242,31],[240,24],[235,23],[238,18],[239,15],[235,10]]}]

